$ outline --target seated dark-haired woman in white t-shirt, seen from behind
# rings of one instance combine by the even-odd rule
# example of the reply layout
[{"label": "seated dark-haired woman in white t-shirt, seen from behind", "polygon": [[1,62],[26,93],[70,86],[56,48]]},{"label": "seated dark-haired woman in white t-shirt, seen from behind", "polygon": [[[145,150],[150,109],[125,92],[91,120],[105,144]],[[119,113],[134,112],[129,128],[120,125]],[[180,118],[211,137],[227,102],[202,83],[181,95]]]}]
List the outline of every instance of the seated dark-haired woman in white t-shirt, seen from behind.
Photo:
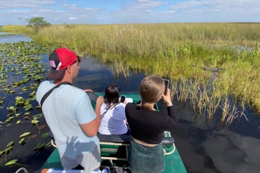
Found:
[{"label": "seated dark-haired woman in white t-shirt, seen from behind", "polygon": [[100,134],[130,135],[126,126],[126,102],[119,102],[119,86],[111,84],[106,88],[104,103],[100,107]]}]

